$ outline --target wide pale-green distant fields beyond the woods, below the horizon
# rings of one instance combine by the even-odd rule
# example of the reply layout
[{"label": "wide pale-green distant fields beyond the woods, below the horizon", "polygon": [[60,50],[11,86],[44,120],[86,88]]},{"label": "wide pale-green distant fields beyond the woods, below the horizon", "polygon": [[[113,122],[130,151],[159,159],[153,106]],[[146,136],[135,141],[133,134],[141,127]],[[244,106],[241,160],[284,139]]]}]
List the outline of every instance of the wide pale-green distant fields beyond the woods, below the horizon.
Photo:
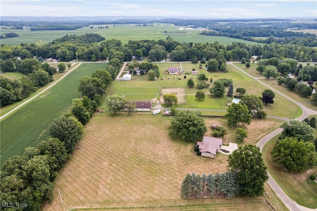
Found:
[{"label": "wide pale-green distant fields beyond the woods, below the horizon", "polygon": [[[242,42],[247,45],[257,45],[256,42],[250,42],[245,40],[239,40],[228,37],[215,37],[215,36],[203,36],[199,35],[200,31],[184,31],[177,30],[174,24],[154,23],[154,26],[135,26],[135,24],[122,24],[114,27],[113,25],[102,25],[108,26],[107,29],[97,29],[97,26],[93,25],[93,29],[90,27],[84,27],[76,30],[47,30],[47,31],[31,31],[29,27],[23,30],[15,29],[1,29],[1,34],[14,32],[19,37],[8,38],[1,40],[1,44],[5,45],[20,45],[21,43],[37,43],[41,41],[43,43],[52,42],[54,39],[63,37],[65,35],[83,35],[86,33],[97,33],[109,39],[121,40],[122,44],[127,44],[129,40],[165,40],[167,36],[175,39],[180,43],[193,42],[193,43],[213,43],[217,41],[219,44],[225,46],[232,44],[233,42]],[[166,33],[165,33],[166,31]],[[263,45],[263,44],[259,44]]]}]

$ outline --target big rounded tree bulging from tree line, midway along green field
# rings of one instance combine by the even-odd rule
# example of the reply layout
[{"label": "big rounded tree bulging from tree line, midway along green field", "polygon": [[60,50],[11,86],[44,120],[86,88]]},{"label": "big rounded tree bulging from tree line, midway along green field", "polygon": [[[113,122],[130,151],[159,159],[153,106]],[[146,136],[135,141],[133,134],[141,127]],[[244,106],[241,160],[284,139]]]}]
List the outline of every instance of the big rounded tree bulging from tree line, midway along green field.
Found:
[{"label": "big rounded tree bulging from tree line, midway along green field", "polygon": [[83,134],[83,125],[72,116],[61,116],[53,120],[49,130],[51,136],[63,142],[66,150],[72,154]]}]

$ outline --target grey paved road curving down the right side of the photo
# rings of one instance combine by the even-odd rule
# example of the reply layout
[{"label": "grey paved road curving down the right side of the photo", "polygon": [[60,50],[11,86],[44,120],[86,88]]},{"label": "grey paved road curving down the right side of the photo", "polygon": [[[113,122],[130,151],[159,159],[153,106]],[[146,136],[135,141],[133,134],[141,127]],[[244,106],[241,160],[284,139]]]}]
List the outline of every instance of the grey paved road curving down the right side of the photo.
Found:
[{"label": "grey paved road curving down the right side of the photo", "polygon": [[[263,84],[264,86],[266,86],[267,88],[269,88],[270,90],[276,92],[277,94],[279,94],[280,96],[286,98],[287,100],[291,101],[292,103],[296,104],[297,106],[300,106],[300,108],[303,110],[303,113],[300,117],[296,118],[297,120],[301,121],[304,118],[306,118],[309,115],[316,115],[317,111],[310,109],[306,106],[303,106],[303,104],[298,103],[297,101],[294,101],[293,99],[289,98],[288,96],[284,95],[283,93],[277,91],[276,89],[268,86],[267,84],[265,84],[264,82],[260,81],[259,79],[253,77],[252,75],[250,75],[249,73],[245,72],[244,70],[242,70],[241,68],[237,67],[236,65],[234,65],[232,62],[228,62],[228,64],[234,66],[236,69],[240,70],[241,72],[243,72],[244,74],[248,75],[249,77],[253,78],[254,80],[258,81],[259,83]],[[280,134],[283,131],[282,128],[278,128],[276,130],[274,130],[273,132],[267,134],[263,139],[261,139],[256,145],[260,148],[261,152],[263,150],[264,145],[273,137],[275,137],[276,135]],[[306,208],[303,206],[300,206],[299,204],[297,204],[296,202],[294,202],[293,200],[291,200],[291,198],[289,198],[289,196],[286,195],[286,193],[282,190],[282,188],[275,182],[275,180],[273,179],[273,177],[269,174],[269,172],[267,172],[268,174],[268,180],[267,183],[269,184],[269,186],[271,186],[271,188],[274,190],[274,192],[276,193],[276,195],[278,196],[278,198],[280,198],[280,200],[285,204],[285,206],[290,210],[290,211],[317,211],[317,209],[310,209],[310,208]]]}]

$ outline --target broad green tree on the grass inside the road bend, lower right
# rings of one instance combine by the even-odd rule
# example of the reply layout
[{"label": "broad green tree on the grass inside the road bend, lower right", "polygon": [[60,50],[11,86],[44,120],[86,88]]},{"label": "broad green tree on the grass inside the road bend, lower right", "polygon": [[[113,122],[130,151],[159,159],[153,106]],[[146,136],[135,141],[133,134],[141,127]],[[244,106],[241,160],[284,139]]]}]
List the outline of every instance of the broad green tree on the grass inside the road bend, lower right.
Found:
[{"label": "broad green tree on the grass inside the road bend, lower right", "polygon": [[274,162],[288,171],[301,173],[317,165],[314,144],[293,137],[278,140],[270,154]]}]

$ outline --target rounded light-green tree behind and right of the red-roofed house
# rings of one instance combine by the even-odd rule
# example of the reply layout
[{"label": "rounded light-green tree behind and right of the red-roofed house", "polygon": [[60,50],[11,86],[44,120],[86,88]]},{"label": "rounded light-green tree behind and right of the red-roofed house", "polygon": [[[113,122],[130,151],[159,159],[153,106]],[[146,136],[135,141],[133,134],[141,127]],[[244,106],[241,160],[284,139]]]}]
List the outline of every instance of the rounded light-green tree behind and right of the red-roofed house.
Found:
[{"label": "rounded light-green tree behind and right of the red-roofed house", "polygon": [[252,115],[246,105],[233,103],[227,108],[227,113],[223,118],[227,119],[228,125],[237,126],[238,122],[250,124]]}]

